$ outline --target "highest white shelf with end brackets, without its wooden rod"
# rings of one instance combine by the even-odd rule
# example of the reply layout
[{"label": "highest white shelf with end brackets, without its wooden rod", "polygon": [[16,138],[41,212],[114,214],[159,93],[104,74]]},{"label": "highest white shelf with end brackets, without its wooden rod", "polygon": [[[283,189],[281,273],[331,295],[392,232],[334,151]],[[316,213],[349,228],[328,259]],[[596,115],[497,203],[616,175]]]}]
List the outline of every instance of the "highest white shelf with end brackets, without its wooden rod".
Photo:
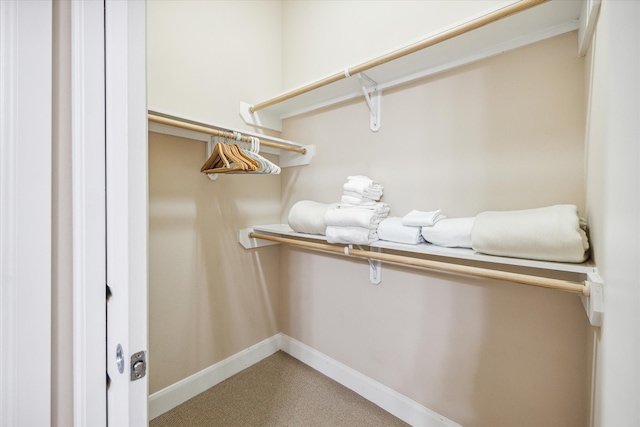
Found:
[{"label": "highest white shelf with end brackets, without its wooden rod", "polygon": [[[401,46],[399,49],[384,53],[378,58],[394,52],[406,49],[421,40],[427,40],[447,31],[463,27],[471,21],[482,19],[484,16],[514,5],[512,1],[500,5],[485,13],[471,17],[464,22],[456,23],[447,28],[426,35],[423,39],[414,43]],[[590,24],[593,20],[580,20],[581,14],[594,15],[592,8],[583,10],[584,0],[551,0],[536,5],[530,9],[515,13],[506,18],[487,24],[473,31],[457,35],[446,41],[421,49],[399,59],[376,65],[367,69],[367,76],[377,83],[376,90],[382,92],[386,89],[406,84],[430,75],[441,73],[453,68],[470,64],[482,59],[499,55],[506,51],[517,49],[541,40],[558,36],[581,29],[580,46],[577,51],[584,53],[585,43],[590,39],[593,31]],[[376,61],[376,58],[346,67],[335,74],[325,76],[316,82],[300,86],[291,91],[284,92],[272,98],[272,100],[293,94],[304,87],[318,85],[320,82],[332,80],[330,84],[323,84],[311,91],[295,95],[286,100],[278,101],[273,105],[251,112],[250,108],[259,104],[268,103],[270,100],[256,102],[255,104],[241,103],[240,114],[246,123],[269,129],[282,130],[282,120],[293,117],[339,102],[362,97],[362,88],[356,77],[357,70],[364,64]],[[344,78],[335,80],[333,77],[345,75]],[[379,123],[378,123],[379,126]]]}]

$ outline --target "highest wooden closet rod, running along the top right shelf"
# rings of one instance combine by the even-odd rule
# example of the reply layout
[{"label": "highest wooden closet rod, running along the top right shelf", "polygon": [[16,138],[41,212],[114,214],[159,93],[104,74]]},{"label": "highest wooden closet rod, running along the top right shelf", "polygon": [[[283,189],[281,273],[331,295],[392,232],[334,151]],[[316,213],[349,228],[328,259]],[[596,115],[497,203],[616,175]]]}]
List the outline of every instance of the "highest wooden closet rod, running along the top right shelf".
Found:
[{"label": "highest wooden closet rod, running along the top right shelf", "polygon": [[514,3],[502,9],[491,12],[487,15],[465,22],[464,24],[461,24],[457,27],[443,31],[442,33],[436,34],[434,36],[431,36],[427,39],[421,40],[419,42],[416,42],[414,44],[411,44],[409,46],[396,50],[394,52],[391,52],[381,57],[364,62],[352,68],[347,68],[347,70],[345,70],[344,72],[333,74],[329,77],[325,77],[322,80],[318,80],[317,82],[310,83],[306,86],[302,86],[298,89],[294,89],[292,91],[286,92],[275,98],[256,104],[249,108],[249,112],[255,113],[256,111],[262,110],[264,108],[270,107],[275,104],[279,104],[280,102],[294,98],[298,95],[302,95],[303,93],[311,92],[314,89],[318,89],[320,87],[337,82],[339,80],[346,79],[347,76],[354,76],[358,73],[362,73],[378,65],[382,65],[384,63],[393,61],[395,59],[402,58],[403,56],[406,56],[414,52],[417,52],[419,50],[425,49],[427,47],[436,45],[445,40],[449,40],[456,36],[476,30],[480,27],[484,27],[485,25],[499,21],[500,19],[506,18],[507,16],[516,14],[518,12],[522,12],[523,10],[530,9],[534,6],[537,6],[541,3],[545,3],[547,1],[549,0],[521,0],[518,3]]}]

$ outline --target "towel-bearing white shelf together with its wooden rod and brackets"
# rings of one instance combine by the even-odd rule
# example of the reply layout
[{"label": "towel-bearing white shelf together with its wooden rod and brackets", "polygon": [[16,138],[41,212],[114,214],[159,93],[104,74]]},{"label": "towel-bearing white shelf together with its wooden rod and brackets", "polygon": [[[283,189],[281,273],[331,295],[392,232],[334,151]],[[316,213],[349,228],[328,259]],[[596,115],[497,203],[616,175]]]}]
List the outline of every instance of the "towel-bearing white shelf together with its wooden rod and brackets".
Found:
[{"label": "towel-bearing white shelf together with its wooden rod and brackets", "polygon": [[[296,233],[287,224],[261,225],[240,230],[238,232],[238,242],[245,249],[283,243],[364,258],[369,261],[371,266],[370,278],[372,283],[375,284],[381,281],[380,263],[390,262],[575,293],[582,298],[591,324],[594,326],[602,324],[603,281],[598,275],[597,267],[589,261],[582,264],[537,261],[485,255],[471,249],[445,248],[429,243],[407,245],[382,240],[368,245],[370,250],[365,250],[362,247],[356,249],[353,248],[353,245],[328,244],[324,236]],[[401,255],[385,253],[383,250],[401,253]],[[432,259],[434,257],[436,260]],[[462,260],[462,262],[456,260]],[[481,267],[468,265],[469,262],[479,264]],[[536,274],[505,271],[505,266],[535,269]],[[573,273],[573,275],[579,276],[580,279],[567,281],[554,278],[553,276],[557,276],[558,273]]]}]

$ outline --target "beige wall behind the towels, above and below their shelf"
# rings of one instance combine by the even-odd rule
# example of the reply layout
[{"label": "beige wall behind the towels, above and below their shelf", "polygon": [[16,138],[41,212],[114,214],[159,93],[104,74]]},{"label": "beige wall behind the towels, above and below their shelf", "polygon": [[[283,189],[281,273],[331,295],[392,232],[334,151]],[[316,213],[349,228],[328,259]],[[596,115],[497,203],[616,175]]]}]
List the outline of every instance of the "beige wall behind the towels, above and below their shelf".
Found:
[{"label": "beige wall behind the towels, above and below their shelf", "polygon": [[[283,173],[283,211],[338,201],[348,175],[384,185],[391,214],[573,203],[584,209],[584,60],[575,33],[285,121],[315,143]],[[285,52],[286,53],[286,52]],[[305,62],[301,60],[300,62]],[[588,320],[579,298],[283,248],[285,334],[464,425],[583,426]]]}]

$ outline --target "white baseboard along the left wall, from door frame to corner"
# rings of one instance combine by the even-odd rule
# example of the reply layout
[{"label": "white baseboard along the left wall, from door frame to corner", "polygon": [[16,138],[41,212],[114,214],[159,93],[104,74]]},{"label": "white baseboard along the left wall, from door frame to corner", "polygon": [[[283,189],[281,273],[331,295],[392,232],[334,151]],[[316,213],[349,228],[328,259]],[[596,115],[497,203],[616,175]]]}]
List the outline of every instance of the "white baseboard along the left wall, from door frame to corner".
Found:
[{"label": "white baseboard along the left wall, from door frame to corner", "polygon": [[149,419],[210,389],[280,350],[280,334],[259,342],[149,396]]}]

